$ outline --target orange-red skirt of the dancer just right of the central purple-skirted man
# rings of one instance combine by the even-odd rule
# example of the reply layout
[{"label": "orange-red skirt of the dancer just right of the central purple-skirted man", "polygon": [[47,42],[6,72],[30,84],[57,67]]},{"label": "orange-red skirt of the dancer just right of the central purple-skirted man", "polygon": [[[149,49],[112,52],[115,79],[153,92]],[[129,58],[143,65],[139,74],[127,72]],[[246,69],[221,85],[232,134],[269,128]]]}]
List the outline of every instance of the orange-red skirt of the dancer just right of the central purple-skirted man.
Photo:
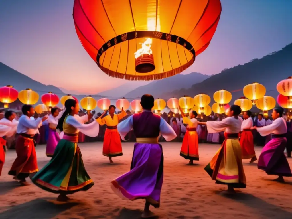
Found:
[{"label": "orange-red skirt of the dancer just right of the central purple-skirted man", "polygon": [[199,160],[199,138],[195,130],[187,130],[180,149],[180,156],[188,160]]}]

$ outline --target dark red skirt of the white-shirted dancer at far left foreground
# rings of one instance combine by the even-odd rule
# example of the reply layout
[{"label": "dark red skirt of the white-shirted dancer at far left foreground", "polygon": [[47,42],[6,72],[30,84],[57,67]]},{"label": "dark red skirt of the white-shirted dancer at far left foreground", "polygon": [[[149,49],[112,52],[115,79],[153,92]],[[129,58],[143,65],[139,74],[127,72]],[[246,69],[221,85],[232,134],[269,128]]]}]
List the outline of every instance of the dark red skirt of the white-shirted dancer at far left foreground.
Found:
[{"label": "dark red skirt of the white-shirted dancer at far left foreground", "polygon": [[11,166],[9,175],[17,176],[19,173],[29,174],[39,171],[33,139],[19,135],[15,150],[17,157]]}]

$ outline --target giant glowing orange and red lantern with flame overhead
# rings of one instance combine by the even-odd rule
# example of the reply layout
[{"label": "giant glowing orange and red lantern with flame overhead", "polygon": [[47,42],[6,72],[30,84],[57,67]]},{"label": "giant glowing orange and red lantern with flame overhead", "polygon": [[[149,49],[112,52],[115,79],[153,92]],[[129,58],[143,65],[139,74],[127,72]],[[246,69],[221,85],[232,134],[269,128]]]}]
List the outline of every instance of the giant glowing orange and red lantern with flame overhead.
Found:
[{"label": "giant glowing orange and red lantern with flame overhead", "polygon": [[210,44],[220,0],[75,0],[77,36],[105,74],[157,80],[179,74]]}]

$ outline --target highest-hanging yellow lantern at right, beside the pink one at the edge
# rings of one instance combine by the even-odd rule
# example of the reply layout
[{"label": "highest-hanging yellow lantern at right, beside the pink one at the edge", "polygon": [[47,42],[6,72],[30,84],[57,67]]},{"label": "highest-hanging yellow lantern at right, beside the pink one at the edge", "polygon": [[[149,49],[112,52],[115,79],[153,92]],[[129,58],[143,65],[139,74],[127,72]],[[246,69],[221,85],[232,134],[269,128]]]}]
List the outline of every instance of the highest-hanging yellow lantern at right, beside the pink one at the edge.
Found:
[{"label": "highest-hanging yellow lantern at right, beside the pink one at the edge", "polygon": [[266,88],[262,84],[259,83],[252,83],[244,86],[243,88],[243,95],[250,99],[253,105],[256,104],[256,101],[260,98],[263,98],[266,93]]}]

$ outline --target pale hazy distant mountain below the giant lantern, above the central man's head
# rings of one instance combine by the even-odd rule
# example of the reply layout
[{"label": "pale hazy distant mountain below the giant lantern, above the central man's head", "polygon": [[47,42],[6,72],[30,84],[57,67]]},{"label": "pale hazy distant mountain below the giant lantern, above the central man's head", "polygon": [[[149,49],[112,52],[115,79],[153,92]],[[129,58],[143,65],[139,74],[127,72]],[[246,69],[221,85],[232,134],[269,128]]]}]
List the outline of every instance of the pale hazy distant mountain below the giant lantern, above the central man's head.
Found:
[{"label": "pale hazy distant mountain below the giant lantern, above the central man's head", "polygon": [[181,88],[190,88],[193,84],[204,81],[208,77],[210,77],[210,75],[197,72],[192,72],[190,74],[177,74],[173,77],[152,81],[147,85],[140,86],[133,91],[128,92],[125,95],[125,98],[141,97],[145,93],[152,94],[154,98],[161,98],[163,92],[170,92]]}]

